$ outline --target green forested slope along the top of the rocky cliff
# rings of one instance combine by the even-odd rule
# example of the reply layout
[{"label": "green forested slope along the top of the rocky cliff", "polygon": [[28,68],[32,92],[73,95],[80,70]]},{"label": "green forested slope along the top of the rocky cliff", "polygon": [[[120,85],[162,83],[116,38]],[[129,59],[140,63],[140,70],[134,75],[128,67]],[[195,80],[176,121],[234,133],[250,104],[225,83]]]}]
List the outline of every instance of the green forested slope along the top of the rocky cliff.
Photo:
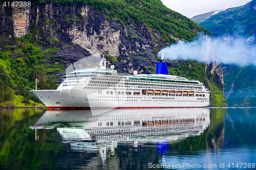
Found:
[{"label": "green forested slope along the top of the rocky cliff", "polygon": [[197,25],[178,12],[165,7],[158,0],[40,0],[38,4],[54,3],[63,5],[90,5],[92,8],[102,10],[107,19],[121,20],[126,23],[132,19],[134,23],[143,23],[161,33],[162,38],[169,43],[176,40],[171,35],[184,40],[192,40],[197,32],[211,33]]}]

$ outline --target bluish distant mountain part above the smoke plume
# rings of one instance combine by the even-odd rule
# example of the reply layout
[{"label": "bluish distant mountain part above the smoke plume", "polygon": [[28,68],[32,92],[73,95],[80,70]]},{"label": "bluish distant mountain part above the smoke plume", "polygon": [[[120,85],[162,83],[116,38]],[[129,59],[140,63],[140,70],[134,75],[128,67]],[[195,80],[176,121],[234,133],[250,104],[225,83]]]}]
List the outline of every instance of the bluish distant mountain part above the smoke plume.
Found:
[{"label": "bluish distant mountain part above the smoke plume", "polygon": [[199,25],[209,30],[213,36],[242,35],[255,43],[256,1],[221,11]]}]

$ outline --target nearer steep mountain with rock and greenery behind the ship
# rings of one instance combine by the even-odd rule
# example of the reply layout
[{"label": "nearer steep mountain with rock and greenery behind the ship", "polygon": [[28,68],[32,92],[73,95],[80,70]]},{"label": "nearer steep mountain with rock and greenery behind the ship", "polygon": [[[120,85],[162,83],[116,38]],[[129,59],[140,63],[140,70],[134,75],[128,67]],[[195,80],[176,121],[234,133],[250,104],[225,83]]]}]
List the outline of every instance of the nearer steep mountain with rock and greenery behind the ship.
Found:
[{"label": "nearer steep mountain with rock and greenery behind the ship", "polygon": [[[34,1],[0,9],[1,101],[29,104],[35,88],[55,89],[65,69],[105,55],[123,73],[155,74],[157,53],[198,32],[211,33],[159,0]],[[169,74],[202,81],[212,105],[226,105],[221,65],[166,61]]]}]

